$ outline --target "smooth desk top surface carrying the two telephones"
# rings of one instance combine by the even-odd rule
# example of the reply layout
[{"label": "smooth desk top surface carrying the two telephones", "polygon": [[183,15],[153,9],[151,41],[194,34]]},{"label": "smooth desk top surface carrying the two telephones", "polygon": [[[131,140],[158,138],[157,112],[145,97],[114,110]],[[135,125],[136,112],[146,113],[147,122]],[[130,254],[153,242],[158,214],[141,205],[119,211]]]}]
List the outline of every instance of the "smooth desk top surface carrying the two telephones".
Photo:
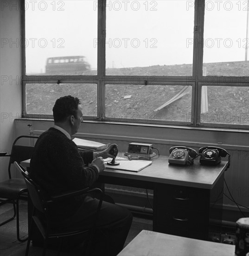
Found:
[{"label": "smooth desk top surface carrying the two telephones", "polygon": [[[21,162],[21,165],[28,167],[29,160]],[[192,165],[171,165],[168,163],[168,157],[160,156],[157,159],[153,159],[152,164],[140,172],[106,168],[100,175],[199,189],[212,189],[223,174],[226,165],[227,162],[222,161],[215,166],[205,166],[201,165],[198,159]]]}]

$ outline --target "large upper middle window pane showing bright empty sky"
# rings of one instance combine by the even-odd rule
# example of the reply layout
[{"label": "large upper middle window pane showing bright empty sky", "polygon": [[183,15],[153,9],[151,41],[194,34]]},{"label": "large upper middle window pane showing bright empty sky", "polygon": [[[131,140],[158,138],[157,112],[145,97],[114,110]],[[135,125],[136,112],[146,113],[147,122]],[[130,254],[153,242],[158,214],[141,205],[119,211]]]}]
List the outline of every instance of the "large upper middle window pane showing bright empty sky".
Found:
[{"label": "large upper middle window pane showing bright empty sky", "polygon": [[[190,1],[107,1],[106,74],[192,75]],[[179,33],[181,31],[181,33]]]}]

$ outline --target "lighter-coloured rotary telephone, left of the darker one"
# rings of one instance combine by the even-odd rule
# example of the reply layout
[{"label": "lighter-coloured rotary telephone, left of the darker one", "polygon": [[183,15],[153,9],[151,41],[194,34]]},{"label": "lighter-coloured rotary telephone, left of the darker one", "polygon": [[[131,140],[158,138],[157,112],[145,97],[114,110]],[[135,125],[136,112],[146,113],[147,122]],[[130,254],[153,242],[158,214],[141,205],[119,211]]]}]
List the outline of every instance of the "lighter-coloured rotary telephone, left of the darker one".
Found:
[{"label": "lighter-coloured rotary telephone, left of the darker one", "polygon": [[169,149],[169,163],[192,164],[198,153],[193,148],[176,146]]}]

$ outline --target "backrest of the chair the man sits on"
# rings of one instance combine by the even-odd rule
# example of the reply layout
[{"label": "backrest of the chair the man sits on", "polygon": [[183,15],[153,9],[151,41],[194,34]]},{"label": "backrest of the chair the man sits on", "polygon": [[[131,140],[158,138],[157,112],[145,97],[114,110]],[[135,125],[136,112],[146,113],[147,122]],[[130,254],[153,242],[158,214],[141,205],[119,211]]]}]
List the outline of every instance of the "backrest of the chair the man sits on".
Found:
[{"label": "backrest of the chair the man sits on", "polygon": [[18,162],[14,162],[14,165],[24,177],[32,204],[40,212],[45,213],[44,200],[39,186],[29,178],[25,169]]}]

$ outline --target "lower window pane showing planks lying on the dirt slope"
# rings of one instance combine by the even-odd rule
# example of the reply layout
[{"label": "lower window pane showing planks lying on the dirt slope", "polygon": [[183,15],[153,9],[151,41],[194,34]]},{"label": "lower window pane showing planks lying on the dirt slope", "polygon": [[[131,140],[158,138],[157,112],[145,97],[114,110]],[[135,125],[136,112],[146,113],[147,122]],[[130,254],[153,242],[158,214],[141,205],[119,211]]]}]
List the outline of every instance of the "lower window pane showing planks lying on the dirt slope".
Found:
[{"label": "lower window pane showing planks lying on the dirt slope", "polygon": [[105,111],[110,121],[191,121],[191,86],[106,85]]}]

